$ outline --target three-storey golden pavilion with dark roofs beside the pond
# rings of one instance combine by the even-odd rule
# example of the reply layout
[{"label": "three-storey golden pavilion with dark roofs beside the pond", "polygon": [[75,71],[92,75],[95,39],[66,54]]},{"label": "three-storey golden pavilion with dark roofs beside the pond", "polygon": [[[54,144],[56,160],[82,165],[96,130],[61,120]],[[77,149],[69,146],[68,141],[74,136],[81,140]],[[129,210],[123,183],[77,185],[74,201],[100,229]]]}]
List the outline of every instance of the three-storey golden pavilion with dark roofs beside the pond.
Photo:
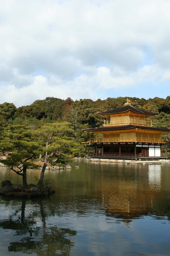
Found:
[{"label": "three-storey golden pavilion with dark roofs beside the pond", "polygon": [[159,113],[146,111],[127,103],[119,108],[99,112],[106,116],[102,127],[84,129],[96,134],[89,140],[88,149],[93,149],[91,157],[112,159],[161,159],[161,146],[166,141],[161,134],[170,129],[153,127],[150,116]]}]

